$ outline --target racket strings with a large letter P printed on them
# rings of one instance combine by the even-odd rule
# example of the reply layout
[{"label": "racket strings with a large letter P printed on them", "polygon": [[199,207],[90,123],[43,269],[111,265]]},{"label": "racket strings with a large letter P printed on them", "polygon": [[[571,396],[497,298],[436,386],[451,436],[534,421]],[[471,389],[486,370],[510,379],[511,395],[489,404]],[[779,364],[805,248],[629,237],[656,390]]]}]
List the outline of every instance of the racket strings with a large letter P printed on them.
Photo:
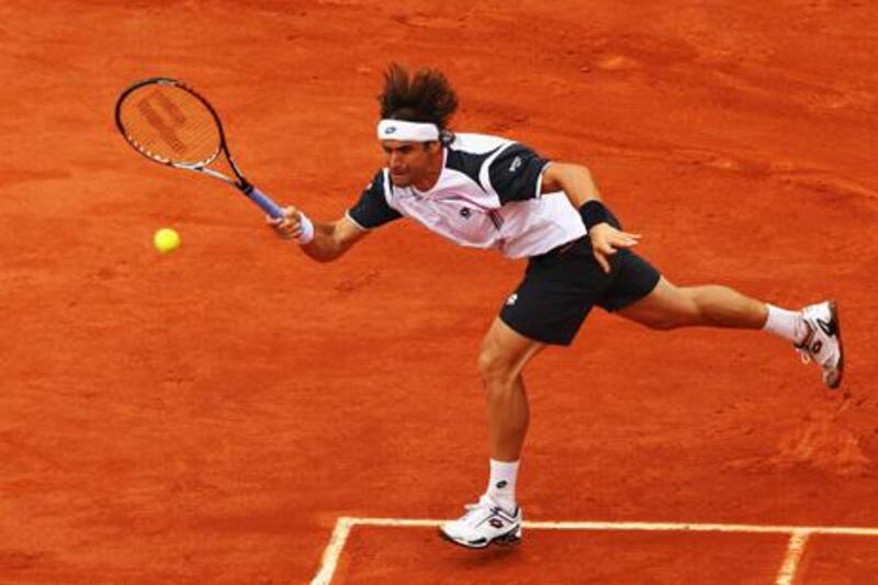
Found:
[{"label": "racket strings with a large letter P printed on them", "polygon": [[203,166],[219,153],[213,113],[178,86],[147,85],[132,91],[121,105],[120,122],[128,142],[161,162]]}]

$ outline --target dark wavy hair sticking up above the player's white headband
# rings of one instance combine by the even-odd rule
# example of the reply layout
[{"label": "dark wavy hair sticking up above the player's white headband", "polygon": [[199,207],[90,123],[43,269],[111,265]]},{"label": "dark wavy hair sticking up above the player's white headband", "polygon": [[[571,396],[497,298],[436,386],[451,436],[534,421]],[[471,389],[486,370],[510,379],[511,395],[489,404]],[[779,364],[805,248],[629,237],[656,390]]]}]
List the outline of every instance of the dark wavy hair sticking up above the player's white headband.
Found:
[{"label": "dark wavy hair sticking up above the player's white headband", "polygon": [[419,69],[409,75],[398,63],[384,71],[384,91],[378,100],[382,119],[432,122],[443,135],[450,135],[448,123],[458,109],[458,95],[441,71]]}]

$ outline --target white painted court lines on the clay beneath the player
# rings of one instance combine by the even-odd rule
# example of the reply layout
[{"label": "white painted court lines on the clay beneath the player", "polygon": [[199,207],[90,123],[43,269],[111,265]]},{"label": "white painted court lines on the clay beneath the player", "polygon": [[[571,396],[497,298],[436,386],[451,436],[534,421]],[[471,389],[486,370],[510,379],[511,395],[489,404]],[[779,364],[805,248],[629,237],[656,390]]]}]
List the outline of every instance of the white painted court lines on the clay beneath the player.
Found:
[{"label": "white painted court lines on the clay beneath the player", "polygon": [[[348,535],[354,526],[387,526],[398,528],[430,528],[448,520],[409,518],[349,518],[341,517],[324,551],[320,570],[311,585],[328,585],[345,548]],[[878,537],[878,528],[846,526],[764,526],[745,524],[699,524],[699,522],[524,522],[532,530],[611,530],[649,532],[739,532],[752,535],[791,535],[777,577],[776,585],[791,585],[796,577],[799,561],[811,535],[844,535],[854,537]]]}]

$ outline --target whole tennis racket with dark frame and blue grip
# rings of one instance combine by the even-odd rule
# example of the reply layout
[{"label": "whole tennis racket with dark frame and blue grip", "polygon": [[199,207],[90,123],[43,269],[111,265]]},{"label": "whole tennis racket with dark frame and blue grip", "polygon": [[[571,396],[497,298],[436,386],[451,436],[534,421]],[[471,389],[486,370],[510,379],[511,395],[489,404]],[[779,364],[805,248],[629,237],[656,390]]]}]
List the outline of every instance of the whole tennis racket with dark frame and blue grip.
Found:
[{"label": "whole tennis racket with dark frame and blue grip", "polygon": [[134,83],[119,97],[116,125],[149,160],[216,177],[237,187],[272,217],[283,215],[235,166],[213,106],[180,81],[156,77]]}]

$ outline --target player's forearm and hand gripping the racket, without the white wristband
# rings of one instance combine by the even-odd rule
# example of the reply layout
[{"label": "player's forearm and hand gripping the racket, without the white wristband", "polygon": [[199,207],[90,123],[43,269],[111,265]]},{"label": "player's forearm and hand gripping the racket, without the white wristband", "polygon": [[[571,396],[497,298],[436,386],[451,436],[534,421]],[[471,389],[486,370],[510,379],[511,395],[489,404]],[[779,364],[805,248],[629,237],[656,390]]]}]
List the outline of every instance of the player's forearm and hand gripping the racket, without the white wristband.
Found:
[{"label": "player's forearm and hand gripping the racket, without the white wristband", "polygon": [[[268,224],[284,239],[299,239],[303,233],[302,213],[295,207],[284,207],[283,216],[268,218]],[[314,238],[301,246],[302,251],[318,262],[340,258],[369,232],[353,223],[347,215],[330,223],[314,223]]]}]

